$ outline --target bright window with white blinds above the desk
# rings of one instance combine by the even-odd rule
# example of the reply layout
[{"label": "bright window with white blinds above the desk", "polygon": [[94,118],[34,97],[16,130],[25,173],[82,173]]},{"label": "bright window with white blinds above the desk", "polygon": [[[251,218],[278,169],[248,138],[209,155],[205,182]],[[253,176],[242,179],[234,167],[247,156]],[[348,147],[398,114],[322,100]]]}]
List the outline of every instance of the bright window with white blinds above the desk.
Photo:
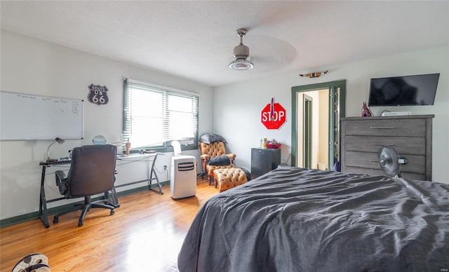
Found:
[{"label": "bright window with white blinds above the desk", "polygon": [[198,96],[180,90],[123,81],[123,146],[131,149],[198,145]]}]

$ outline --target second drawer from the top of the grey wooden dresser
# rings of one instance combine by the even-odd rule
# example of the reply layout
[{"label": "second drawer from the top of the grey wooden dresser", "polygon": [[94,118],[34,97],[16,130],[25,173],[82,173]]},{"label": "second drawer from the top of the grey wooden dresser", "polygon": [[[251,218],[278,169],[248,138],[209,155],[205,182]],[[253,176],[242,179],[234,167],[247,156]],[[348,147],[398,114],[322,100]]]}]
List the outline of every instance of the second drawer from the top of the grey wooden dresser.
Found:
[{"label": "second drawer from the top of the grey wooden dresser", "polygon": [[426,139],[424,137],[382,137],[382,136],[347,136],[347,151],[378,152],[381,147],[391,146],[399,155],[426,154]]}]

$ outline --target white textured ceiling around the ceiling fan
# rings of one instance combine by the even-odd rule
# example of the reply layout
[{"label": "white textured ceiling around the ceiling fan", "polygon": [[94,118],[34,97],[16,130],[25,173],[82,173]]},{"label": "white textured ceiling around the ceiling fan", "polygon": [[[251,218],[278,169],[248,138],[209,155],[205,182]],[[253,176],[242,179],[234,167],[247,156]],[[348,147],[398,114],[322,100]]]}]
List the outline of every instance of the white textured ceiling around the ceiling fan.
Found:
[{"label": "white textured ceiling around the ceiling fan", "polygon": [[[449,1],[1,1],[1,28],[208,86],[449,45]],[[239,44],[255,67],[227,67]]]}]

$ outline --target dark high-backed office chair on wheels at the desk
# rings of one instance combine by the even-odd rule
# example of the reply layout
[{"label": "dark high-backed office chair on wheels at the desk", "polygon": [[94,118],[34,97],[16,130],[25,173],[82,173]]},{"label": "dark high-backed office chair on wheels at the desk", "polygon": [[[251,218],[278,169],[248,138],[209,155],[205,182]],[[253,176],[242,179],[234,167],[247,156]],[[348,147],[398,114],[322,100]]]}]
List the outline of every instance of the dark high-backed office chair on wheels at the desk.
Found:
[{"label": "dark high-backed office chair on wheels at the desk", "polygon": [[66,176],[65,172],[56,171],[56,185],[65,198],[84,197],[84,203],[58,213],[53,218],[53,223],[58,223],[61,215],[83,210],[78,223],[78,226],[83,226],[84,217],[91,208],[106,208],[114,215],[112,205],[102,204],[105,200],[92,201],[91,196],[114,188],[116,154],[117,147],[111,144],[85,145],[73,149],[69,173]]}]

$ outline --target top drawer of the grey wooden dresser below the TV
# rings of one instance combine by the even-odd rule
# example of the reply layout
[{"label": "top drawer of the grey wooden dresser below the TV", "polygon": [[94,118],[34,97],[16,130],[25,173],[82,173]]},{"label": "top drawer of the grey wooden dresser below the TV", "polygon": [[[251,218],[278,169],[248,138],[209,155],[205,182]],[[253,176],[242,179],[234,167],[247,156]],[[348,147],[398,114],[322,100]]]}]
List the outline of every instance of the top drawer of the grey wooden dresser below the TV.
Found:
[{"label": "top drawer of the grey wooden dresser below the TV", "polygon": [[351,120],[346,135],[425,137],[425,119]]}]

